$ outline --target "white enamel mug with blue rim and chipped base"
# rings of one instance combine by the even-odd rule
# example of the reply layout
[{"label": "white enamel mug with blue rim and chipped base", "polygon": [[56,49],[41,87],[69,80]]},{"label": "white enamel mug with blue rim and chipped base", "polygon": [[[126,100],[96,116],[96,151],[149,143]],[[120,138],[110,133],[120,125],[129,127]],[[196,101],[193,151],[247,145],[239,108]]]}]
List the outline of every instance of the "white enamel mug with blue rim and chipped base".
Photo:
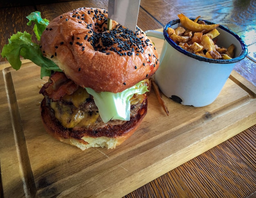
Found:
[{"label": "white enamel mug with blue rim and chipped base", "polygon": [[182,49],[169,38],[167,28],[175,29],[178,26],[181,26],[179,19],[166,24],[163,33],[145,31],[147,36],[164,39],[155,81],[162,93],[176,102],[194,107],[207,106],[220,94],[236,62],[247,55],[247,46],[236,33],[220,25],[217,28],[220,32],[217,44],[227,48],[233,43],[236,47],[235,58],[204,58]]}]

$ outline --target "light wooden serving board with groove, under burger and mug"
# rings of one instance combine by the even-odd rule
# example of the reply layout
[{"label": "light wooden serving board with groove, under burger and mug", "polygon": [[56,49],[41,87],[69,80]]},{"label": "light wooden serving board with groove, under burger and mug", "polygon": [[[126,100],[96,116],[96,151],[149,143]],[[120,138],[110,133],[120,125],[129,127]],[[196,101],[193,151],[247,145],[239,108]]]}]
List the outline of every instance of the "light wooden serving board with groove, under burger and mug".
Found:
[{"label": "light wooden serving board with groove, under burger and mug", "polygon": [[[163,41],[152,38],[158,52]],[[207,107],[152,91],[139,129],[116,149],[85,151],[49,136],[40,120],[38,93],[47,79],[23,60],[20,70],[0,65],[0,168],[5,198],[121,197],[256,124],[256,87],[235,71]]]}]

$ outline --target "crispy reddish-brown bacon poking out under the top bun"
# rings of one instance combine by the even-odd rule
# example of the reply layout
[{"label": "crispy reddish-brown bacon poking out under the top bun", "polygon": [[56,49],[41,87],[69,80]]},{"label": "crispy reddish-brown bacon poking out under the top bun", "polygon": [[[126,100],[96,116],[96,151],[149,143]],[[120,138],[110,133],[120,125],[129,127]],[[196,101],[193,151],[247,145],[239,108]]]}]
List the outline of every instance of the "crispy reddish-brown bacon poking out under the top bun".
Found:
[{"label": "crispy reddish-brown bacon poking out under the top bun", "polygon": [[43,96],[49,96],[52,101],[56,102],[65,94],[73,94],[78,87],[74,81],[67,78],[65,73],[56,71],[49,78],[49,82],[43,85],[39,93],[43,94]]}]

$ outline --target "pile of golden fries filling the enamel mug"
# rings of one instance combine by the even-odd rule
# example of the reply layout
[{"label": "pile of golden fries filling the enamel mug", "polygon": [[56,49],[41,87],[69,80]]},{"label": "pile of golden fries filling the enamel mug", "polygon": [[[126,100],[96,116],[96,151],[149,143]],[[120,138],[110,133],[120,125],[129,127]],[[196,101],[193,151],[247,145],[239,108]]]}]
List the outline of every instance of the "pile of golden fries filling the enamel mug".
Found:
[{"label": "pile of golden fries filling the enamel mug", "polygon": [[183,27],[172,29],[168,27],[167,33],[169,37],[176,42],[177,45],[195,53],[198,56],[203,56],[211,59],[231,59],[234,58],[234,44],[228,48],[219,47],[216,42],[219,31],[216,29],[219,24],[205,24],[204,21],[190,20],[184,14],[178,14]]}]

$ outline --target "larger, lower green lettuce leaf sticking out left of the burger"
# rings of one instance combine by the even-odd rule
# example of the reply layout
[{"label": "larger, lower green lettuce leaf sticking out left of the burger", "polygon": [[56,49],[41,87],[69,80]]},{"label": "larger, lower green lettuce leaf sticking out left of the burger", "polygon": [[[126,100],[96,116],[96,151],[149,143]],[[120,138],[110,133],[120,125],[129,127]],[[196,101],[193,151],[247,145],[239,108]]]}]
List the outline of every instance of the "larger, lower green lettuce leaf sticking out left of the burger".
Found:
[{"label": "larger, lower green lettuce leaf sticking out left of the burger", "polygon": [[13,69],[20,69],[20,56],[29,59],[36,65],[42,67],[41,78],[50,76],[51,70],[62,71],[52,60],[45,58],[40,51],[38,44],[31,41],[32,35],[27,33],[17,32],[9,38],[9,44],[4,45],[2,49],[2,57],[7,58]]}]

